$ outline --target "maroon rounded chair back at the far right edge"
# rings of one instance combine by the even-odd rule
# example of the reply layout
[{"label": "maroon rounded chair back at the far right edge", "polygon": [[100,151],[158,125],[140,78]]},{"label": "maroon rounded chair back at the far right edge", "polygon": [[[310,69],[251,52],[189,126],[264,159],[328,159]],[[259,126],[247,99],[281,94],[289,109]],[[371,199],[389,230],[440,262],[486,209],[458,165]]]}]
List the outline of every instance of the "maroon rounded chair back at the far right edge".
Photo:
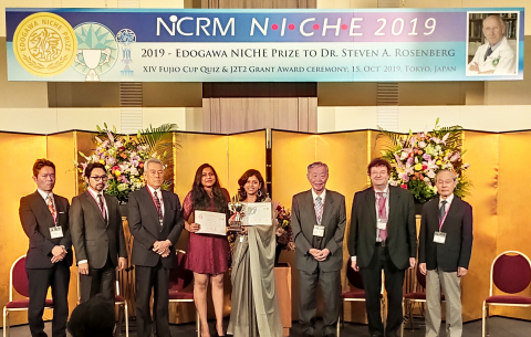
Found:
[{"label": "maroon rounded chair back at the far right edge", "polygon": [[492,296],[492,283],[507,294],[524,291],[531,283],[531,261],[521,252],[507,251],[501,253],[492,262],[490,296]]}]

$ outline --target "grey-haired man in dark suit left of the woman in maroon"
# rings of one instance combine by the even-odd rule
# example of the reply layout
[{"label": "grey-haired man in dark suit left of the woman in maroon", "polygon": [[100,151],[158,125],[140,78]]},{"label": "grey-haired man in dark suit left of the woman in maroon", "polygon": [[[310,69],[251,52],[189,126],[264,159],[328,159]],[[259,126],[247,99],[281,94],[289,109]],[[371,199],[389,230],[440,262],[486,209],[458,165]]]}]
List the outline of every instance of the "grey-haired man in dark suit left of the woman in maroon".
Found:
[{"label": "grey-haired man in dark suit left of the woman in maroon", "polygon": [[136,322],[138,337],[152,335],[149,298],[154,288],[153,320],[156,336],[169,337],[168,282],[175,244],[184,228],[179,197],[162,191],[164,167],[150,158],[144,166],[146,187],[129,193],[129,230],[134,236],[132,262],[136,275]]}]

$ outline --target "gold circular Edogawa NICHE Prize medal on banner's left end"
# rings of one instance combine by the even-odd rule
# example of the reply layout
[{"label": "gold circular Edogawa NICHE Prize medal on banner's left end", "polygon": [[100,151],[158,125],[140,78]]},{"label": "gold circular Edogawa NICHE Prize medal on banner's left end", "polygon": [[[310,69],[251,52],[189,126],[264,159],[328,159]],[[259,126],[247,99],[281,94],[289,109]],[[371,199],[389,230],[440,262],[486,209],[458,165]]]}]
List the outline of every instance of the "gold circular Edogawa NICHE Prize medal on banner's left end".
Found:
[{"label": "gold circular Edogawa NICHE Prize medal on banner's left end", "polygon": [[34,13],[14,31],[13,51],[29,73],[40,77],[54,76],[74,62],[77,40],[70,23],[60,15]]}]

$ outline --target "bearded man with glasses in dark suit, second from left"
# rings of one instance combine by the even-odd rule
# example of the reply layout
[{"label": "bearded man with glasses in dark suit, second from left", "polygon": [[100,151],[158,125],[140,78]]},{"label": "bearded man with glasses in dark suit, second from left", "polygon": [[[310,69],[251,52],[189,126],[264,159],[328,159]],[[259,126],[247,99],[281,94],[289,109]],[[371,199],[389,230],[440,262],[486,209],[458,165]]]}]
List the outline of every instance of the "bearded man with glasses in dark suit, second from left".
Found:
[{"label": "bearded man with glasses in dark suit, second from left", "polygon": [[97,294],[114,301],[115,270],[123,270],[127,264],[118,201],[103,193],[107,181],[103,164],[88,164],[84,177],[87,189],[72,199],[70,208],[70,230],[81,274],[81,302]]}]

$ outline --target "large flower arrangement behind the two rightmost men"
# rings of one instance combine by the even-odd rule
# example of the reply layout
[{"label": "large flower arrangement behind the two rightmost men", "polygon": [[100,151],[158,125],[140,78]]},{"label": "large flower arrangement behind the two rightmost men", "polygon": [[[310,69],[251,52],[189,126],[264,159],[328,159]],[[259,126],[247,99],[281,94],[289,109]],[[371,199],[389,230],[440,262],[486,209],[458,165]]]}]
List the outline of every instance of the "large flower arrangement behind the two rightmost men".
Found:
[{"label": "large flower arrangement behind the two rightmost men", "polygon": [[470,165],[462,161],[462,127],[440,127],[437,118],[431,131],[416,135],[379,130],[377,139],[386,140],[383,158],[392,165],[389,185],[412,191],[415,202],[424,203],[437,194],[437,171],[448,169],[457,176],[454,193],[459,198],[470,194],[471,183],[465,176]]}]

